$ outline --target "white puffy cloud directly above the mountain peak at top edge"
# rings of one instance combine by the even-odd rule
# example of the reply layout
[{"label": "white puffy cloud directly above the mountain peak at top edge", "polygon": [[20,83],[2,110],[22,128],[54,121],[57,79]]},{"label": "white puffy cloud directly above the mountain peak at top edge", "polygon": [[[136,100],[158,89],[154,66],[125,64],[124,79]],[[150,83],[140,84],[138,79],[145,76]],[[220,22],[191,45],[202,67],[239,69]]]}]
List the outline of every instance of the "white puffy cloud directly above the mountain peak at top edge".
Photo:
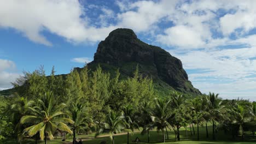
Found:
[{"label": "white puffy cloud directly above the mountain peak at top edge", "polygon": [[[121,10],[126,10],[118,14],[118,26],[127,27],[136,32],[147,32],[159,23],[163,17],[173,14],[177,1],[138,1],[129,3],[124,9],[124,3],[118,2]],[[136,9],[136,10],[134,10]]]}]

